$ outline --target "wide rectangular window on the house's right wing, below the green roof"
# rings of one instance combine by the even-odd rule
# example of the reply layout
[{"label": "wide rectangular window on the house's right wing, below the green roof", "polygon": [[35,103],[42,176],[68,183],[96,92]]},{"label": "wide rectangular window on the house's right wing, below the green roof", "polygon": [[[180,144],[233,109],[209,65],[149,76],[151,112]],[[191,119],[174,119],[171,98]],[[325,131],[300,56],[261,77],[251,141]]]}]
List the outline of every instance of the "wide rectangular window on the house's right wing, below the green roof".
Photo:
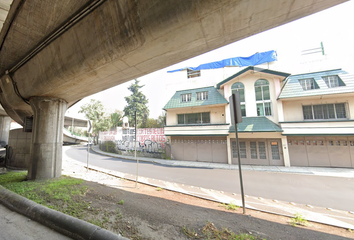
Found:
[{"label": "wide rectangular window on the house's right wing, below the green roof", "polygon": [[302,106],[304,120],[346,119],[345,103]]}]

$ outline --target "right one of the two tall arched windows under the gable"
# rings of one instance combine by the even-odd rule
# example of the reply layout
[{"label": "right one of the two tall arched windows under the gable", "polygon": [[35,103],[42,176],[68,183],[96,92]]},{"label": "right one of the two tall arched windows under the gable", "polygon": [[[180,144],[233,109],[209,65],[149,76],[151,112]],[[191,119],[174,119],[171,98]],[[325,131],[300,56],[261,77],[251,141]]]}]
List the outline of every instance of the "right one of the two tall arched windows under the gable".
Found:
[{"label": "right one of the two tall arched windows under the gable", "polygon": [[257,116],[271,116],[272,103],[270,101],[269,82],[265,79],[254,83],[256,92]]}]

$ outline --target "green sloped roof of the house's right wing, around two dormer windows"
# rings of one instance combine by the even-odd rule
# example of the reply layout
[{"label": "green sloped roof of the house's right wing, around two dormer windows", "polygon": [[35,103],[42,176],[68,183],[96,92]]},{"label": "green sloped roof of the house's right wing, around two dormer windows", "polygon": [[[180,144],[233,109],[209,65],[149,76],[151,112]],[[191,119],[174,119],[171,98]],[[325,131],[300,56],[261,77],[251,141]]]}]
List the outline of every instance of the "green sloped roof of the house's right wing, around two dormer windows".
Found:
[{"label": "green sloped roof of the house's right wing, around two dormer windows", "polygon": [[[343,82],[342,86],[330,88],[322,77],[337,75]],[[304,90],[299,82],[301,79],[313,78],[318,88]],[[285,85],[279,95],[279,99],[294,97],[309,97],[328,94],[354,92],[354,75],[348,74],[341,69],[326,70],[321,72],[291,75],[286,79]]]}]

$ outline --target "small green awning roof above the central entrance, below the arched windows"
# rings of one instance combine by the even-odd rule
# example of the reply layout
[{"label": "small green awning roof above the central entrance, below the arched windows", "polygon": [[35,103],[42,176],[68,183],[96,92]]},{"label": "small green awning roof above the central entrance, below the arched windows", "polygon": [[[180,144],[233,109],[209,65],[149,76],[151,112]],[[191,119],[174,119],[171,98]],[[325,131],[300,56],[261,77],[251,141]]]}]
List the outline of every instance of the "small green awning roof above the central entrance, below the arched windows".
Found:
[{"label": "small green awning roof above the central entrance, below the arched windows", "polygon": [[[237,124],[238,132],[282,132],[281,127],[267,117],[243,117]],[[229,132],[235,132],[235,126],[230,126]]]}]

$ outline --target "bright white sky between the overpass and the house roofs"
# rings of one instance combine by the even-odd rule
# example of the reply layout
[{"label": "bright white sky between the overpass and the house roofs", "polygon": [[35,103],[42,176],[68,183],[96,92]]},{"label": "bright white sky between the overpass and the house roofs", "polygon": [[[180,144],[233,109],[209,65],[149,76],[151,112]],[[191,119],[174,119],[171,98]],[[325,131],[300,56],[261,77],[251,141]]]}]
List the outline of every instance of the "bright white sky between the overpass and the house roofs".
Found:
[{"label": "bright white sky between the overpass and the house roofs", "polygon": [[[276,50],[278,61],[270,64],[272,70],[298,74],[342,68],[354,73],[354,33],[350,27],[354,23],[353,12],[354,0],[351,0],[140,77],[140,84],[144,85],[141,91],[149,100],[149,117],[157,118],[161,115],[162,108],[171,98],[164,94],[173,85],[168,81],[171,78],[168,70],[197,67],[202,63]],[[320,47],[321,42],[325,56],[301,55],[305,49]],[[238,71],[240,69],[236,67],[235,73]],[[127,105],[124,97],[131,94],[128,90],[131,84],[132,81],[129,81],[86,97],[68,109],[66,115],[84,118],[78,111],[91,99],[101,101],[107,111],[122,111]]]}]

